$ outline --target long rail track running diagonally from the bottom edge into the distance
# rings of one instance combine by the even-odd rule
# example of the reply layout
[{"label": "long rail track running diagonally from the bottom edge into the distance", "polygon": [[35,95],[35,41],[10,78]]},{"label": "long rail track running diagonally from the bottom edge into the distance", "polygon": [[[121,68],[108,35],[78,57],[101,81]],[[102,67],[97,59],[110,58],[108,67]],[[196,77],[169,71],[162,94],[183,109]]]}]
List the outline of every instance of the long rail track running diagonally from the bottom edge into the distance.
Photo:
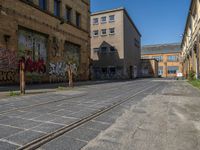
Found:
[{"label": "long rail track running diagonally from the bottom edge into the distance", "polygon": [[37,148],[41,147],[42,145],[50,142],[51,140],[53,140],[53,139],[65,134],[65,133],[67,133],[67,132],[69,132],[69,131],[71,131],[71,130],[73,130],[73,129],[81,126],[81,125],[83,125],[84,123],[87,123],[87,122],[99,117],[100,115],[102,115],[102,114],[104,114],[104,113],[106,113],[106,112],[108,112],[108,111],[120,106],[121,104],[130,101],[136,95],[141,94],[141,93],[145,92],[146,90],[155,88],[156,86],[158,86],[158,85],[156,84],[156,85],[153,85],[153,86],[148,86],[148,87],[138,91],[137,93],[135,93],[135,94],[133,94],[131,96],[127,96],[127,97],[119,100],[118,102],[114,102],[113,104],[111,104],[111,105],[109,105],[107,107],[99,109],[95,113],[93,113],[91,115],[88,115],[88,116],[80,119],[79,121],[76,121],[76,122],[74,122],[74,123],[72,123],[70,125],[66,125],[66,126],[60,128],[60,129],[58,129],[58,130],[56,130],[56,131],[54,131],[52,133],[49,133],[49,134],[47,134],[45,136],[42,136],[42,137],[40,137],[40,138],[30,142],[30,143],[27,143],[26,145],[18,148],[17,150],[34,150],[34,149],[37,149]]}]

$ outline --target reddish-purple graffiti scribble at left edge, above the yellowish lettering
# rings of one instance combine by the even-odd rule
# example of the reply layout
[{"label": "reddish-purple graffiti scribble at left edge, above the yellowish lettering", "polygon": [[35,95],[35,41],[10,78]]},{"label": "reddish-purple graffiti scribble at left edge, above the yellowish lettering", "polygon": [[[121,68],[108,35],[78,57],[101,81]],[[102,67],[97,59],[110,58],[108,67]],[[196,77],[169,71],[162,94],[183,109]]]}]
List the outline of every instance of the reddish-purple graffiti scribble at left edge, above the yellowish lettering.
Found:
[{"label": "reddish-purple graffiti scribble at left edge, above the yellowish lettering", "polygon": [[15,51],[0,48],[0,69],[16,69],[17,53]]}]

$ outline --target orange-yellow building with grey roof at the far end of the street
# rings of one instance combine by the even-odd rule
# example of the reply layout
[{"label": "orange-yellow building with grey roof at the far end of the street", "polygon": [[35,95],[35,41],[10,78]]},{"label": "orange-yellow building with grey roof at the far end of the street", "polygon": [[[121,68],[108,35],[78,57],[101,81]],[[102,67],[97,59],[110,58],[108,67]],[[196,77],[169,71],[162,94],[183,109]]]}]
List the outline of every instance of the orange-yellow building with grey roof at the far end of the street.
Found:
[{"label": "orange-yellow building with grey roof at the far end of the street", "polygon": [[182,73],[180,44],[147,45],[142,47],[142,58],[158,60],[158,75],[176,77]]}]

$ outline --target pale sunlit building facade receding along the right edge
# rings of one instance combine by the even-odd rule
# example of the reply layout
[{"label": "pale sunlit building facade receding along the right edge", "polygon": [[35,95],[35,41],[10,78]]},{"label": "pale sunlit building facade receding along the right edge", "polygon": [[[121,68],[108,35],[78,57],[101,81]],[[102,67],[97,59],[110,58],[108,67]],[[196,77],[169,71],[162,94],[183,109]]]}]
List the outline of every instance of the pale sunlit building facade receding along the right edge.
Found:
[{"label": "pale sunlit building facade receding along the right edge", "polygon": [[181,43],[184,74],[193,71],[200,78],[200,1],[191,0]]}]

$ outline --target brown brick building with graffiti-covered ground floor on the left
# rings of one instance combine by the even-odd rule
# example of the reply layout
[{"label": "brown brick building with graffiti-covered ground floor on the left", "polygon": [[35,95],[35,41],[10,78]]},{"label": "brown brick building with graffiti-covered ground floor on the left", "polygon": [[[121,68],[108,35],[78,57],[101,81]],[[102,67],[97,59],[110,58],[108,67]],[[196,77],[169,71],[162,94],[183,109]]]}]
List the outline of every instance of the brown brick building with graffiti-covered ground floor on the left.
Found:
[{"label": "brown brick building with graffiti-covered ground floor on the left", "polygon": [[73,59],[86,80],[90,58],[89,0],[0,0],[0,83],[62,81]]}]

